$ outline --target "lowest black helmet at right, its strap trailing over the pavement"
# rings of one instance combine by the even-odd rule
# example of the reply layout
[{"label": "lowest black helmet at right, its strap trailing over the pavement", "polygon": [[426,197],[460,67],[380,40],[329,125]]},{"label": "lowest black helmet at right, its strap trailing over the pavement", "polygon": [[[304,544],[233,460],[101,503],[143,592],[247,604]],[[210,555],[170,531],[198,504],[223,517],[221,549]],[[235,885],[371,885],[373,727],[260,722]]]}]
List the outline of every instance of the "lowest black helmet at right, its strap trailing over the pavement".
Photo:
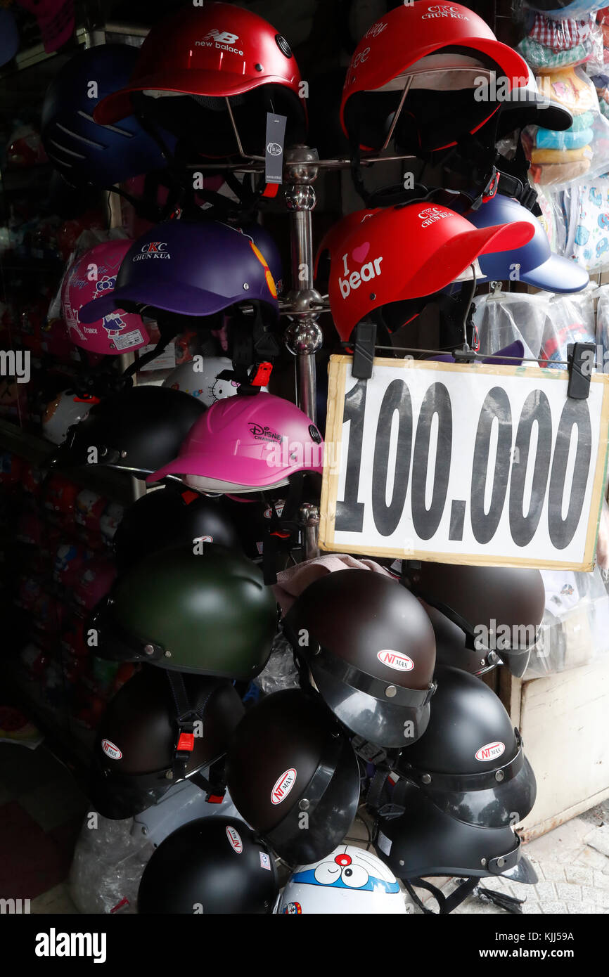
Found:
[{"label": "lowest black helmet at right, its strap trailing over the pavement", "polygon": [[[402,786],[399,803],[381,808],[374,827],[374,847],[391,871],[406,882],[422,884],[434,893],[443,913],[450,913],[482,877],[503,875],[510,881],[535,885],[537,874],[522,854],[520,838],[512,828],[465,825],[443,813],[413,784]],[[386,815],[384,815],[386,812]],[[402,812],[402,813],[401,813]],[[396,817],[396,814],[398,815]],[[470,879],[446,901],[442,893],[421,879],[453,875]]]}]

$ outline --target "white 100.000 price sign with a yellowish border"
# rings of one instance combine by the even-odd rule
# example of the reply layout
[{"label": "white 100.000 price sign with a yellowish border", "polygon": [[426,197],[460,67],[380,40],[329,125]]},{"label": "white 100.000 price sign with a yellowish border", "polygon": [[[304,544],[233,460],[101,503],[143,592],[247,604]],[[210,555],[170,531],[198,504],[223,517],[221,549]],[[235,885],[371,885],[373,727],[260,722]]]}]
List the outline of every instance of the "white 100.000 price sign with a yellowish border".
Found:
[{"label": "white 100.000 price sign with a yellowish border", "polygon": [[329,366],[320,544],[440,563],[591,570],[609,377],[351,357]]}]

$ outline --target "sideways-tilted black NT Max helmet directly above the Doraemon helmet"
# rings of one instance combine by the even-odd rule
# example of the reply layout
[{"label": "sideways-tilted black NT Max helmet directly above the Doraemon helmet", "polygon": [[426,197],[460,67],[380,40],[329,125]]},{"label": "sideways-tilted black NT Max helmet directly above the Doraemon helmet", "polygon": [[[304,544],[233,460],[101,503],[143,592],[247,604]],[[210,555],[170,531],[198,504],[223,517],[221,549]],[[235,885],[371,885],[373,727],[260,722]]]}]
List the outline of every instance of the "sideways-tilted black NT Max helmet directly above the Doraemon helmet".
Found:
[{"label": "sideways-tilted black NT Max helmet directly above the Doraemon helmet", "polygon": [[228,750],[227,782],[239,814],[297,865],[325,858],[342,841],[360,797],[351,744],[324,703],[299,689],[245,713]]}]

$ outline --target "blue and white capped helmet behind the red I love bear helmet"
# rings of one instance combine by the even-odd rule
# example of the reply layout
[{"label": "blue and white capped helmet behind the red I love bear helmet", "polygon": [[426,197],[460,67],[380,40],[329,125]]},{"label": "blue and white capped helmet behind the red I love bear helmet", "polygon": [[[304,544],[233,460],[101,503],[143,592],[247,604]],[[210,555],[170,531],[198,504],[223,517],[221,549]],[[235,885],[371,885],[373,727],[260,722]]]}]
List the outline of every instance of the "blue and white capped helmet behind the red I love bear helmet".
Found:
[{"label": "blue and white capped helmet behind the red I love bear helmet", "polygon": [[585,268],[576,261],[552,254],[541,223],[517,200],[498,193],[478,210],[467,213],[466,217],[476,228],[518,221],[528,222],[534,229],[531,240],[521,248],[480,255],[480,271],[485,278],[491,281],[523,281],[550,292],[578,292],[586,288],[589,279]]}]

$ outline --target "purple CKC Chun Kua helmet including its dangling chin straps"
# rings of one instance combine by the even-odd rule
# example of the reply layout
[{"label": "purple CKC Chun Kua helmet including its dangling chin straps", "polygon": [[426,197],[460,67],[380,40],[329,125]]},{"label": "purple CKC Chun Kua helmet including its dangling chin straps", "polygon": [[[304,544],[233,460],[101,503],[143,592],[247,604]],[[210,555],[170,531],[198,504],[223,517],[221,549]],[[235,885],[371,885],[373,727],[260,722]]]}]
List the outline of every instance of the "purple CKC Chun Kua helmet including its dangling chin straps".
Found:
[{"label": "purple CKC Chun Kua helmet including its dangling chin straps", "polygon": [[[239,348],[245,346],[236,377],[243,382],[252,362],[272,360],[280,352],[272,332],[279,319],[277,288],[267,259],[252,236],[217,221],[170,221],[138,237],[113,291],[83,306],[80,321],[115,315],[125,306],[157,320],[161,342],[156,352],[185,328],[221,328],[224,314],[230,313],[229,333]],[[251,380],[260,386],[257,374],[256,368]]]}]

